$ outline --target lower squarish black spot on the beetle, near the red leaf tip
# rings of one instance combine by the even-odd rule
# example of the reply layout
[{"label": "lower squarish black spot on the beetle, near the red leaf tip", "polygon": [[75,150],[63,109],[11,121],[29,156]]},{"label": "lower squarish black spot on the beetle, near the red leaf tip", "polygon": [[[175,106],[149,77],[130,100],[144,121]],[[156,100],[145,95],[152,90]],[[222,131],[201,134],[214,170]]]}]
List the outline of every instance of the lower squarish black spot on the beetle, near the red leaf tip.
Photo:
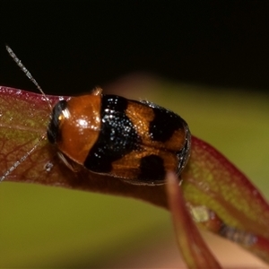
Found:
[{"label": "lower squarish black spot on the beetle, near the red leaf tip", "polygon": [[141,159],[139,179],[155,182],[164,180],[165,174],[163,160],[160,156],[152,154]]}]

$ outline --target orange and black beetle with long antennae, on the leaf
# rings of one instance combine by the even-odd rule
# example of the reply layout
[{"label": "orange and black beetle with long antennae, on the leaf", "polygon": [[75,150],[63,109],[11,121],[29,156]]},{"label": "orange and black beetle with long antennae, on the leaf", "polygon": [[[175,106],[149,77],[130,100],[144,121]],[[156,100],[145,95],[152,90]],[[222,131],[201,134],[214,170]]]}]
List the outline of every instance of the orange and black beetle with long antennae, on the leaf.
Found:
[{"label": "orange and black beetle with long antennae, on the leaf", "polygon": [[94,173],[152,186],[163,184],[168,171],[180,176],[191,148],[191,134],[183,118],[150,101],[102,94],[100,88],[60,100],[52,108],[13,50],[7,50],[48,101],[52,109],[48,142],[56,145],[69,168],[73,169],[71,160]]}]

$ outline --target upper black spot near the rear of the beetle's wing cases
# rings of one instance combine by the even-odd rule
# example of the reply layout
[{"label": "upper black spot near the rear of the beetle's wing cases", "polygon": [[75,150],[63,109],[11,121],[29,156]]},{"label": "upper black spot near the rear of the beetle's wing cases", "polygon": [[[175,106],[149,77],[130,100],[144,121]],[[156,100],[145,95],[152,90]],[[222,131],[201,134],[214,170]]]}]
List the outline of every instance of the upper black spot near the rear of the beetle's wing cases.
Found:
[{"label": "upper black spot near the rear of the beetle's wing cases", "polygon": [[184,128],[184,120],[168,109],[156,106],[152,108],[154,119],[150,123],[152,140],[166,142],[178,129]]}]

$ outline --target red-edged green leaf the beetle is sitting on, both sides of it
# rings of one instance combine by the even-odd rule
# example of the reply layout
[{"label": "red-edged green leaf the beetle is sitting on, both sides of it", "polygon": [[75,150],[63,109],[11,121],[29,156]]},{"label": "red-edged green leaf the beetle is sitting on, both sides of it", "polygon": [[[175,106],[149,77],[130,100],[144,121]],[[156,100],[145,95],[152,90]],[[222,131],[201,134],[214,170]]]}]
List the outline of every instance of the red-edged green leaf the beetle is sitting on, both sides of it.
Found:
[{"label": "red-edged green leaf the beetle is sitting on, both sides of it", "polygon": [[[60,98],[48,96],[48,99],[54,105]],[[0,170],[3,174],[47,131],[49,115],[48,103],[41,95],[0,86]],[[235,229],[232,240],[245,232],[256,241],[247,246],[237,242],[268,261],[269,208],[265,199],[220,152],[195,137],[192,143],[192,154],[182,174],[182,190],[191,212],[195,213],[197,206],[204,206],[208,216],[215,217],[215,221],[210,217],[204,221],[205,227],[218,233],[223,225],[230,233]],[[167,207],[163,186],[134,186],[82,167],[78,169],[77,173],[67,169],[57,158],[56,148],[43,140],[4,180],[126,195]],[[223,235],[229,238],[228,233]]]}]

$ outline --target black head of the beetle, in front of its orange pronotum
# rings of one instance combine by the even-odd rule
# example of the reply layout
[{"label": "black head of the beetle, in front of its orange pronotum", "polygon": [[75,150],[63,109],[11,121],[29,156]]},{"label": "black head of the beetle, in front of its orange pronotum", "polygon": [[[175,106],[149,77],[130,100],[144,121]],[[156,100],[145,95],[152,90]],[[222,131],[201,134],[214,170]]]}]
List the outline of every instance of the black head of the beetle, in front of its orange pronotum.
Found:
[{"label": "black head of the beetle, in front of its orange pronotum", "polygon": [[50,143],[57,143],[59,140],[61,140],[59,116],[62,114],[62,111],[65,108],[67,108],[67,101],[60,100],[52,109],[51,119],[47,130],[48,141]]}]

